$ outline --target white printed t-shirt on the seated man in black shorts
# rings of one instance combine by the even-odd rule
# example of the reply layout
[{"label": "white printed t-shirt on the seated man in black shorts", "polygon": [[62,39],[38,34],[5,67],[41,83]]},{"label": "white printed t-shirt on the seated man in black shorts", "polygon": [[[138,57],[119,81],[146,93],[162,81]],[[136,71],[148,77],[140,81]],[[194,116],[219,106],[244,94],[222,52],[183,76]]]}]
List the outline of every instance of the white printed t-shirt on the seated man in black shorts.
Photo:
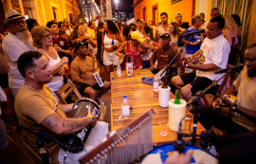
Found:
[{"label": "white printed t-shirt on the seated man in black shorts", "polygon": [[[220,35],[214,39],[205,38],[202,46],[200,47],[200,58],[198,64],[216,64],[218,67],[225,69],[229,60],[230,46],[227,39]],[[211,81],[218,80],[225,73],[214,74],[214,71],[201,71],[196,70],[196,76],[206,77]],[[219,81],[220,85],[222,82]]]}]

